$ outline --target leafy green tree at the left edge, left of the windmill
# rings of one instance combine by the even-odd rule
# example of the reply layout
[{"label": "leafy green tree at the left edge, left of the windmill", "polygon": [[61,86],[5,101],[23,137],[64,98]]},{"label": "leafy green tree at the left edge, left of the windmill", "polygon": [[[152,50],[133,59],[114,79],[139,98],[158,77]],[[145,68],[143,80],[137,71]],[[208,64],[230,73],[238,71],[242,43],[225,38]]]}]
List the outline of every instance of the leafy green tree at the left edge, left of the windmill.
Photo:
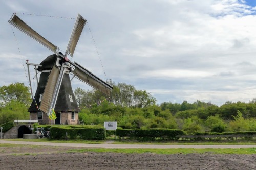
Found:
[{"label": "leafy green tree at the left edge, left of the windmill", "polygon": [[25,105],[31,103],[29,87],[24,83],[12,83],[8,86],[0,87],[0,100],[3,105],[11,101],[18,101]]}]

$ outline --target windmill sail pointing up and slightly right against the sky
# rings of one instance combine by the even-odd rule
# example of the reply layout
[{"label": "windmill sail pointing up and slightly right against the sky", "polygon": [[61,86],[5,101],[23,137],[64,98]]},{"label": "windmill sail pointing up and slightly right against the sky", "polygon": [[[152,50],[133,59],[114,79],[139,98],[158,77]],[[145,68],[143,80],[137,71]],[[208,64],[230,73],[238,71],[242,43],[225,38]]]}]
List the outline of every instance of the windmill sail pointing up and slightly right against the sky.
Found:
[{"label": "windmill sail pointing up and slightly right against the sky", "polygon": [[68,53],[71,55],[71,57],[73,57],[75,48],[76,48],[76,44],[79,40],[79,37],[82,33],[83,27],[84,25],[86,25],[87,20],[84,19],[80,14],[78,14],[77,18],[76,18],[76,23],[74,25],[74,29],[72,31],[70,40],[69,40],[69,44],[67,46],[67,50],[65,53],[65,57],[68,55]]}]

